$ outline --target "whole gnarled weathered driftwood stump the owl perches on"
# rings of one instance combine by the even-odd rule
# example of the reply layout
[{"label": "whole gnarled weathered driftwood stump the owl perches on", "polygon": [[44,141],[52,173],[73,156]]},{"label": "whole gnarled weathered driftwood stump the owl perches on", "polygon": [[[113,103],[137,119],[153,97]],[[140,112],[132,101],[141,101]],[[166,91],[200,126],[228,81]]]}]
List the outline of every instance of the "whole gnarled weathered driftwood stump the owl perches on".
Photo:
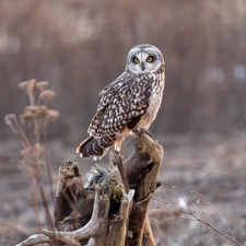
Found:
[{"label": "whole gnarled weathered driftwood stump the owl perches on", "polygon": [[43,230],[17,246],[155,246],[147,210],[164,153],[145,131],[137,130],[134,137],[136,150],[126,161],[112,152],[109,171],[94,167],[84,185],[78,163],[61,163],[55,230]]}]

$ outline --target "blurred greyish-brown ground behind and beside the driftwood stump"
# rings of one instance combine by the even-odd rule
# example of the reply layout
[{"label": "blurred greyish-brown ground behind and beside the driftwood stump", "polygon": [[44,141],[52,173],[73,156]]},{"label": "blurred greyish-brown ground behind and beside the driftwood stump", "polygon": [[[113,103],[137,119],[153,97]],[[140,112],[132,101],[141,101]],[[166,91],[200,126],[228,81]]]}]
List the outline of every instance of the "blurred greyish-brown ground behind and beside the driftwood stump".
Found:
[{"label": "blurred greyish-brown ground behind and beside the driftwood stump", "polygon": [[[246,245],[246,132],[230,137],[212,133],[156,136],[165,151],[159,175],[162,185],[150,208],[157,245],[236,245],[190,214],[180,213],[179,208],[190,209],[204,222]],[[17,167],[19,148],[14,138],[1,141],[0,244],[5,246],[38,232],[32,183]],[[127,150],[122,154],[127,156],[131,152],[131,141],[125,142],[124,148]],[[79,159],[74,149],[58,140],[49,143],[55,187],[58,167],[63,160],[78,161],[84,175],[94,164],[91,159]],[[97,164],[106,167],[107,160],[108,155]],[[45,189],[48,191],[48,186]],[[42,204],[38,209],[44,221]]]}]

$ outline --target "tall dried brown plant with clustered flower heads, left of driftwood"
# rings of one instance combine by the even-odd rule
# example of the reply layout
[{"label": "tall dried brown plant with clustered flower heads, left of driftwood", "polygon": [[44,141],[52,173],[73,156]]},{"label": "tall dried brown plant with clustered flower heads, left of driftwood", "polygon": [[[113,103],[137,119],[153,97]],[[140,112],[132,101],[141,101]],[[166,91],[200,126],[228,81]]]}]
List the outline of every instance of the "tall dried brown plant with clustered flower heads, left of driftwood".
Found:
[{"label": "tall dried brown plant with clustered flower heads, left of driftwood", "polygon": [[[42,198],[45,210],[46,225],[52,227],[52,218],[48,209],[48,203],[54,201],[54,192],[48,161],[47,127],[49,122],[58,118],[59,113],[48,108],[48,102],[55,97],[55,92],[47,90],[48,84],[47,81],[36,82],[35,80],[21,82],[19,87],[27,94],[30,104],[20,118],[15,114],[5,116],[7,125],[22,145],[20,150],[22,160],[19,167],[22,169],[23,176],[32,183],[33,207],[39,230],[42,230],[42,223],[37,208],[38,196]],[[49,196],[45,194],[43,186],[44,171],[49,180]]]}]

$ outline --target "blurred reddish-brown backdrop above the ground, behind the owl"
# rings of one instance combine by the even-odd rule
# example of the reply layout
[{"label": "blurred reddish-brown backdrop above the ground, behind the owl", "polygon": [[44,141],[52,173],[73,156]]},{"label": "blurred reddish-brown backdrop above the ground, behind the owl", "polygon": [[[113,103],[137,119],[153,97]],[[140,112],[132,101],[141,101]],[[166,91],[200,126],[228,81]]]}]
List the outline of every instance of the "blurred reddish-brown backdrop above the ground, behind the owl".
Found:
[{"label": "blurred reddish-brown backdrop above the ground, behind the owl", "polygon": [[[52,136],[78,142],[98,92],[125,69],[131,47],[157,46],[166,87],[156,132],[229,133],[246,124],[245,0],[1,0],[0,118],[20,114],[21,81],[47,80],[61,113]],[[80,136],[81,134],[81,136]]]}]

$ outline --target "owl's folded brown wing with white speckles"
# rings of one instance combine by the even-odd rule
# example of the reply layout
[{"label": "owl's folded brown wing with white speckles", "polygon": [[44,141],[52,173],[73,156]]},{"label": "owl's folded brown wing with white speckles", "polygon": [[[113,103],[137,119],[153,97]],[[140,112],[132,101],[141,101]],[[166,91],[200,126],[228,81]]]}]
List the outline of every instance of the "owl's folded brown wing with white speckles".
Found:
[{"label": "owl's folded brown wing with white speckles", "polygon": [[116,79],[99,93],[102,98],[89,133],[96,138],[120,132],[126,127],[132,129],[147,112],[151,89],[150,78],[124,73]]}]

